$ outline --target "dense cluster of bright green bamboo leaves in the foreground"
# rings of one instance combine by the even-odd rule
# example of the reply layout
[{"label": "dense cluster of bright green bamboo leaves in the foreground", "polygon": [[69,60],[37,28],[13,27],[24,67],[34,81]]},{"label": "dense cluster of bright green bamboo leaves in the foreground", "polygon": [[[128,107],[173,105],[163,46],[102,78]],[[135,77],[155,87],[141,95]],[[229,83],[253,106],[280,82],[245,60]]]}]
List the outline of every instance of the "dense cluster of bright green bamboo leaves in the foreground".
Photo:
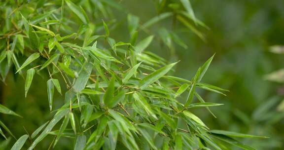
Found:
[{"label": "dense cluster of bright green bamboo leaves in the foreground", "polygon": [[[165,1],[159,0],[159,6]],[[97,13],[91,11],[94,5]],[[48,78],[48,103],[55,113],[31,135],[18,139],[0,121],[0,134],[6,138],[3,128],[17,139],[12,150],[25,144],[34,150],[47,135],[54,136],[49,149],[67,137],[74,141],[74,150],[226,150],[231,146],[254,150],[237,138],[263,138],[210,130],[192,113],[193,108],[212,113],[209,107],[222,105],[205,102],[197,93],[197,89],[226,91],[202,82],[213,56],[187,80],[170,75],[178,62],[170,63],[147,49],[151,42],[155,44],[154,36],[136,41],[140,28],[172,15],[204,38],[186,20],[206,27],[195,18],[189,0],[169,4],[173,12],[163,12],[142,25],[137,16],[128,14],[131,38],[124,42],[110,37],[114,20],[101,20],[111,14],[108,8],[119,7],[114,0],[3,0],[0,7],[2,81],[9,72],[22,76],[27,97],[36,84],[35,75]],[[161,32],[162,40],[172,47],[164,34],[169,33]],[[173,33],[172,38],[186,46]],[[56,91],[64,105],[55,109]],[[182,94],[186,98],[178,99]],[[0,112],[21,117],[2,105]]]}]

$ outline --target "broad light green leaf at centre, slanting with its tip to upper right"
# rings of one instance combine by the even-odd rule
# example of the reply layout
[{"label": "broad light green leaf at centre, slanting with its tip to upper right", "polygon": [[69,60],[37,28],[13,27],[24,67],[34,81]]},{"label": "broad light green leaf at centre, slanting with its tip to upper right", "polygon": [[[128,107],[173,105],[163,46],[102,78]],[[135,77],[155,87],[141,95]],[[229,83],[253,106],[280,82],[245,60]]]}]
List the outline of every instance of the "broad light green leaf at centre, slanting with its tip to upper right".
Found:
[{"label": "broad light green leaf at centre, slanting with its tip to upper right", "polygon": [[158,69],[157,71],[153,72],[152,74],[145,76],[140,81],[139,87],[141,89],[143,89],[143,88],[147,87],[148,85],[154,83],[160,77],[162,77],[163,75],[166,75],[176,64],[177,64],[177,62],[170,64],[170,65],[167,65],[163,68]]}]

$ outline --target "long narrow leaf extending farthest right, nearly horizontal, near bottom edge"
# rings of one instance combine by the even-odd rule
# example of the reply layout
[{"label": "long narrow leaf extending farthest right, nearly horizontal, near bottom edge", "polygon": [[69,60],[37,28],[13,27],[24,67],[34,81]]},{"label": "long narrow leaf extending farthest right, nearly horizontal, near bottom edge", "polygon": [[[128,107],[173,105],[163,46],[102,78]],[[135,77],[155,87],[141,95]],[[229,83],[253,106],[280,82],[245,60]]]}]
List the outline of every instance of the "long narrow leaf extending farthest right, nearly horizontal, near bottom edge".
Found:
[{"label": "long narrow leaf extending farthest right, nearly horizontal, near bottom edge", "polygon": [[226,135],[226,136],[229,136],[229,137],[238,137],[238,138],[269,138],[269,137],[265,137],[265,136],[242,134],[242,133],[224,131],[224,130],[211,130],[210,133],[222,134],[222,135]]}]

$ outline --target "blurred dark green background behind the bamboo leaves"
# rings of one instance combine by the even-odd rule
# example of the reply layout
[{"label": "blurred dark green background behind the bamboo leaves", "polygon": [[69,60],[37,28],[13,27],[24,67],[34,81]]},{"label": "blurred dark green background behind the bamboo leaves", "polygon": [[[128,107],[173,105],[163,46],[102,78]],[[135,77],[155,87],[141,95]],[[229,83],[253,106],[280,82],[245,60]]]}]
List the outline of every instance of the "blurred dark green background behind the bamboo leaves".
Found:
[{"label": "blurred dark green background behind the bamboo leaves", "polygon": [[[88,0],[81,0],[81,3],[84,1]],[[178,0],[166,0],[162,10],[157,6],[159,0],[112,1],[117,3],[111,7],[112,15],[100,17],[106,21],[116,19],[116,23],[110,28],[110,36],[116,41],[128,41],[128,13],[138,16],[140,24],[143,24],[162,12],[172,11],[169,4]],[[223,96],[201,91],[205,101],[225,105],[212,109],[217,118],[205,109],[196,109],[196,114],[211,129],[271,137],[244,141],[257,150],[283,150],[284,112],[277,110],[277,106],[284,98],[283,90],[281,92],[284,87],[281,83],[264,80],[263,76],[284,68],[284,56],[269,52],[271,45],[284,44],[284,1],[191,0],[191,4],[196,17],[210,28],[208,30],[196,26],[205,40],[175,17],[140,30],[139,39],[155,35],[147,50],[169,61],[180,60],[174,74],[186,79],[191,79],[198,67],[215,53],[203,82],[230,92]],[[192,24],[194,25],[193,22]],[[169,48],[162,41],[163,30],[176,33],[187,48],[178,44],[175,44],[175,48]],[[8,75],[6,85],[1,82],[0,89],[1,103],[23,116],[19,119],[0,114],[1,119],[17,137],[25,134],[24,128],[19,128],[19,125],[32,133],[52,116],[48,108],[45,81],[38,75],[35,76],[27,98],[24,95],[24,79],[21,77],[13,78]],[[63,97],[56,95],[54,103],[59,107],[63,104]],[[47,146],[51,140],[46,140],[42,147]],[[67,149],[71,144],[64,140],[61,140],[60,146]]]}]

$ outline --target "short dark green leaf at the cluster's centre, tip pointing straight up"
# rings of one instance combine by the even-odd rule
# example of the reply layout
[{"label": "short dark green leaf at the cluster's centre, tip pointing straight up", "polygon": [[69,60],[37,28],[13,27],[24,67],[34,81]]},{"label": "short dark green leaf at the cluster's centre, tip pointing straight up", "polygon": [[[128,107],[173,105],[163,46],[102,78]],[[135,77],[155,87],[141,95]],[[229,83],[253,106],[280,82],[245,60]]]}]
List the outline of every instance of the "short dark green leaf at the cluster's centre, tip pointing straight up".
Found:
[{"label": "short dark green leaf at the cluster's centre, tip pointing straight up", "polygon": [[107,107],[110,107],[112,100],[113,100],[113,94],[114,94],[114,82],[115,82],[115,78],[114,76],[111,77],[109,83],[108,83],[108,87],[106,89],[106,93],[103,97],[103,102]]}]

